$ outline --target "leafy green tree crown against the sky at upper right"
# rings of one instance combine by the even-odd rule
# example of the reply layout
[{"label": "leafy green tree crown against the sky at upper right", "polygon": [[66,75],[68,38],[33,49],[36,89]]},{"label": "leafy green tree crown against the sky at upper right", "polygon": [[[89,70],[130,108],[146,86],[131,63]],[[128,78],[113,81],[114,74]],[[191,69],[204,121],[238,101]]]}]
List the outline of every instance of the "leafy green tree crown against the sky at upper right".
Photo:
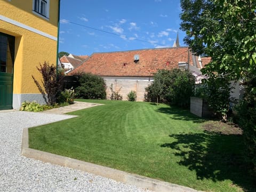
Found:
[{"label": "leafy green tree crown against the sky at upper right", "polygon": [[181,0],[181,8],[184,41],[212,58],[204,74],[238,80],[256,73],[256,1]]}]

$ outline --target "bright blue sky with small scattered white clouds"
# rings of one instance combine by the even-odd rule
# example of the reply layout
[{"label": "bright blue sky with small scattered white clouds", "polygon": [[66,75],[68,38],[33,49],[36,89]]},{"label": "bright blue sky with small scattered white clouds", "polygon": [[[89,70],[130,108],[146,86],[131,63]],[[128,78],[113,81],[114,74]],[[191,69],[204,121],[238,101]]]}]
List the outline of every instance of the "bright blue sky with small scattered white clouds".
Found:
[{"label": "bright blue sky with small scattered white clouds", "polygon": [[[179,0],[61,0],[59,52],[91,55],[171,47]],[[185,32],[179,30],[181,46]]]}]

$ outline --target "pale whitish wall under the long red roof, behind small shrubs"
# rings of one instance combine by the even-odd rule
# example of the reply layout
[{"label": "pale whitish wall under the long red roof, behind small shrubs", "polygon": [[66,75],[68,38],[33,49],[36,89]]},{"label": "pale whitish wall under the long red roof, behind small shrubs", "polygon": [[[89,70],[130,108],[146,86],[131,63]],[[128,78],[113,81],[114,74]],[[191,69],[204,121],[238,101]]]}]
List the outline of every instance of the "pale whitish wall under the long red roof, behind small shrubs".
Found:
[{"label": "pale whitish wall under the long red roof, behind small shrubs", "polygon": [[113,90],[119,91],[123,100],[127,100],[127,94],[130,91],[136,91],[137,101],[144,101],[145,88],[153,82],[149,77],[103,77],[107,85],[107,98],[111,94],[110,86],[113,84]]}]

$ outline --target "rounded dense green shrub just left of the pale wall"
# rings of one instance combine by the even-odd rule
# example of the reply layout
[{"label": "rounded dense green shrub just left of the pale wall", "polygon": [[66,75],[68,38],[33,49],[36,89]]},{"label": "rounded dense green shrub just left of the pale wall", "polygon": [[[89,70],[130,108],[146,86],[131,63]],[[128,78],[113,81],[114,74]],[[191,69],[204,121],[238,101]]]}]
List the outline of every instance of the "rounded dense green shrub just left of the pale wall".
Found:
[{"label": "rounded dense green shrub just left of the pale wall", "polygon": [[106,83],[102,77],[83,73],[78,80],[76,97],[81,99],[106,99]]}]

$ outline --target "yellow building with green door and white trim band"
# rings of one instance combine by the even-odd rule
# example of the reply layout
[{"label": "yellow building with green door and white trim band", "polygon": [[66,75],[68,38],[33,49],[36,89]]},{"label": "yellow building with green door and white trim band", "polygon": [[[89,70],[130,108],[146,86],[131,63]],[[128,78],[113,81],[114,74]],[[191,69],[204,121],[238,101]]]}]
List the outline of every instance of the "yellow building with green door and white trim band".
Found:
[{"label": "yellow building with green door and white trim band", "polygon": [[23,101],[44,103],[32,75],[57,65],[60,0],[0,0],[0,110]]}]

